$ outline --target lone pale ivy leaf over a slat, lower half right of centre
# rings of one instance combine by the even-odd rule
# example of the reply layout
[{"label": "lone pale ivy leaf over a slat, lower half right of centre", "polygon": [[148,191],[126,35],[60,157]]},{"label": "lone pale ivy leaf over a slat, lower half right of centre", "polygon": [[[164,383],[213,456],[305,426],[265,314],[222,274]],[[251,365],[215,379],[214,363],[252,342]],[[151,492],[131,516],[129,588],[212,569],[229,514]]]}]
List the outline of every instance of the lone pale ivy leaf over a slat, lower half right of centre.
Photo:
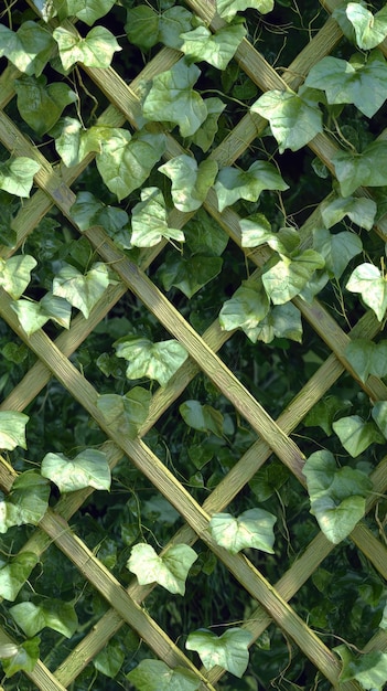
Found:
[{"label": "lone pale ivy leaf over a slat, lower half right of centre", "polygon": [[246,548],[273,554],[276,521],[277,518],[264,509],[248,509],[238,518],[230,513],[214,513],[208,528],[216,544],[230,554]]}]

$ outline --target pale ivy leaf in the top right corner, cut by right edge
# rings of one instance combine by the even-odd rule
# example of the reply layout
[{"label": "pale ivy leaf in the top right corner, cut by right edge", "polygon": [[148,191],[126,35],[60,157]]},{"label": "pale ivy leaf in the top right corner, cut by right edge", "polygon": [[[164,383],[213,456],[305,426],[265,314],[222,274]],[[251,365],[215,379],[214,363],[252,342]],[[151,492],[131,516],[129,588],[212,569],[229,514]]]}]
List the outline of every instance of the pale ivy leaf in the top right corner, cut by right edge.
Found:
[{"label": "pale ivy leaf in the top right corner, cut by right edge", "polygon": [[373,14],[358,2],[348,2],[345,13],[355,30],[356,43],[359,49],[369,51],[387,36],[387,8]]}]

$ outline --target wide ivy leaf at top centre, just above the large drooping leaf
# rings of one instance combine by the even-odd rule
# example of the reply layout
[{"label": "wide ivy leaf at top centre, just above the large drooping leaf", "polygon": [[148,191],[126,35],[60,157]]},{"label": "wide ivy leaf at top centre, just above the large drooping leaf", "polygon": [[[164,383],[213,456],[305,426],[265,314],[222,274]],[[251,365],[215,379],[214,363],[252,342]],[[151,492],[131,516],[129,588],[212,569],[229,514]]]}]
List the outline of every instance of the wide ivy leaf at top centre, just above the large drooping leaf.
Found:
[{"label": "wide ivy leaf at top centre, just above the large drooping leaf", "polygon": [[205,60],[218,70],[226,70],[245,35],[246,26],[243,20],[226,24],[215,33],[212,33],[206,26],[197,26],[193,31],[181,34],[183,45],[180,50],[190,61],[201,62]]}]

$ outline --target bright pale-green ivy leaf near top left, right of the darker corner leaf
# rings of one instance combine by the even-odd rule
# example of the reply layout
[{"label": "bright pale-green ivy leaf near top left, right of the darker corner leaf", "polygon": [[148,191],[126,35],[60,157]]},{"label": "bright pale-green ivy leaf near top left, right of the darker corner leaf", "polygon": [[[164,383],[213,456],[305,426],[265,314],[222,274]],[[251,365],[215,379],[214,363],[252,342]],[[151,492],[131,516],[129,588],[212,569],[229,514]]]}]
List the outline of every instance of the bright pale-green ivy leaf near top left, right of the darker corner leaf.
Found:
[{"label": "bright pale-green ivy leaf near top left, right of the darker corner leaf", "polygon": [[54,29],[53,38],[58,45],[62,65],[66,71],[77,62],[86,67],[109,67],[114,53],[122,50],[105,26],[94,26],[85,39],[75,31],[58,26]]}]

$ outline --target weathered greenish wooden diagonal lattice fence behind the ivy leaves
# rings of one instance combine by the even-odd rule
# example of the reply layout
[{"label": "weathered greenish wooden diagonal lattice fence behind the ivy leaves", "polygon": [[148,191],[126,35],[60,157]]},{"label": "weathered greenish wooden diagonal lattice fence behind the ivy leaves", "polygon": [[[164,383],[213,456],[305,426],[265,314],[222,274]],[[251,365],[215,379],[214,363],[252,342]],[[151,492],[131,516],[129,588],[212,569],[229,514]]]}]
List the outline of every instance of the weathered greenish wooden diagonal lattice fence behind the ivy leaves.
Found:
[{"label": "weathered greenish wooden diagonal lattice fence behind the ivy leaves", "polygon": [[[323,9],[316,3],[316,12],[326,11],[326,21],[319,31],[311,34],[310,41],[303,50],[297,55],[292,64],[283,71],[273,68],[265,59],[265,25],[261,39],[257,43],[259,49],[262,46],[261,52],[247,39],[243,40],[237,49],[235,61],[260,92],[273,88],[283,91],[288,87],[298,89],[311,67],[322,57],[332,53],[341,42],[342,31],[336,21],[330,17],[336,3],[334,0],[330,0],[322,4]],[[28,6],[30,6],[32,14],[37,15],[34,3],[25,2],[25,8]],[[216,14],[213,2],[187,0],[186,7],[203,19],[213,31],[224,23]],[[10,11],[12,12],[12,6]],[[7,19],[7,14],[4,17]],[[66,21],[65,24],[67,29],[76,32],[76,23],[71,24]],[[55,21],[44,25],[53,29]],[[384,41],[379,47],[387,55],[387,41]],[[109,102],[98,123],[110,127],[121,127],[127,123],[130,130],[137,130],[141,123],[141,98],[144,82],[149,82],[155,75],[170,70],[180,57],[179,51],[168,47],[160,50],[143,68],[138,68],[138,74],[130,81],[130,84],[126,83],[115,71],[115,62],[112,62],[111,67],[106,70],[85,67],[79,63],[77,68],[84,73],[84,79],[94,84],[94,91],[100,94],[100,99],[106,97]],[[40,164],[40,169],[34,176],[36,189],[33,190],[31,198],[23,202],[14,219],[13,227],[17,232],[17,244],[11,249],[6,246],[1,248],[1,257],[7,259],[23,247],[26,238],[53,208],[56,208],[75,231],[80,233],[72,212],[75,202],[73,189],[76,189],[77,179],[93,161],[94,153],[88,153],[79,164],[72,168],[66,168],[62,163],[57,164],[54,157],[53,160],[45,158],[40,149],[34,146],[30,136],[23,134],[7,115],[7,108],[15,98],[14,78],[20,73],[11,63],[3,65],[3,67],[0,77],[0,141],[14,156],[28,157]],[[215,160],[219,167],[232,166],[259,138],[266,127],[266,120],[248,111],[222,143],[211,152],[211,159]],[[161,125],[160,131],[162,131]],[[385,132],[377,132],[377,136],[383,139]],[[338,148],[334,138],[325,132],[319,134],[309,142],[309,147],[334,177],[335,169],[332,158]],[[166,134],[165,160],[179,156],[183,151],[184,149],[178,140],[171,134]],[[368,192],[366,189],[359,189],[357,194],[367,196]],[[321,210],[326,204],[326,200],[321,199],[320,202],[300,228],[302,244],[305,248],[311,246],[313,228],[321,225]],[[268,246],[265,245],[256,249],[241,247],[240,219],[230,206],[227,206],[222,213],[218,211],[216,194],[213,190],[209,190],[207,194],[204,210],[227,234],[232,246],[236,245],[248,254],[248,261],[256,265],[259,275],[260,268],[270,257],[271,251]],[[170,214],[169,224],[173,228],[183,228],[191,216],[192,214],[182,213],[174,209]],[[385,238],[387,235],[386,219],[379,220],[373,232]],[[52,340],[43,329],[28,337],[11,307],[12,299],[1,289],[1,319],[34,353],[36,361],[22,381],[2,401],[0,410],[23,412],[36,400],[52,378],[57,380],[106,434],[107,442],[103,449],[108,455],[111,469],[117,466],[123,455],[127,463],[133,464],[155,490],[165,497],[180,513],[183,524],[175,534],[171,533],[170,543],[164,545],[164,550],[172,544],[192,546],[197,540],[201,540],[213,552],[216,560],[228,570],[239,584],[240,589],[246,591],[255,602],[254,612],[241,625],[251,634],[251,645],[273,623],[286,638],[302,651],[305,659],[309,659],[315,667],[316,673],[320,673],[320,679],[327,680],[332,687],[338,688],[341,661],[332,651],[333,645],[329,647],[330,639],[325,640],[316,635],[309,626],[308,620],[303,620],[297,614],[291,600],[320,567],[324,559],[334,550],[341,549],[340,545],[335,546],[322,532],[319,532],[293,561],[291,567],[280,575],[277,583],[269,583],[248,556],[243,553],[230,554],[215,542],[208,532],[208,521],[212,514],[225,511],[239,492],[243,490],[250,491],[248,482],[265,464],[270,461],[272,454],[298,479],[300,496],[305,496],[305,477],[302,472],[304,455],[292,437],[292,432],[345,372],[356,380],[358,390],[363,390],[373,403],[387,400],[387,387],[384,381],[376,376],[369,376],[367,381],[363,382],[345,357],[345,350],[352,338],[375,338],[380,331],[381,322],[369,310],[346,333],[338,326],[338,320],[335,320],[334,316],[318,299],[307,302],[300,297],[294,297],[293,305],[300,310],[303,320],[309,323],[313,332],[327,346],[331,354],[302,386],[295,398],[287,405],[277,419],[273,419],[260,404],[259,396],[251,395],[223,361],[222,347],[228,339],[235,338],[234,332],[222,330],[217,313],[214,312],[213,323],[204,333],[198,333],[182,316],[182,310],[178,309],[165,293],[152,280],[152,264],[157,261],[159,265],[163,261],[165,242],[159,243],[151,249],[142,251],[138,264],[135,264],[123,251],[115,245],[104,227],[89,227],[84,231],[83,235],[95,248],[100,261],[116,272],[118,280],[106,289],[97,305],[92,309],[88,319],[79,313],[73,319],[71,328],[61,332],[55,340]],[[228,248],[226,252],[232,252],[232,249]],[[240,280],[245,276],[245,264],[241,263],[241,266]],[[115,306],[119,305],[127,291],[131,291],[139,298],[166,332],[171,334],[171,338],[176,339],[190,355],[168,384],[155,391],[149,416],[142,424],[139,436],[135,439],[129,439],[125,434],[120,434],[117,428],[112,429],[107,424],[97,406],[98,395],[101,392],[98,392],[93,382],[83,375],[72,359],[79,346]],[[259,343],[256,348],[259,348]],[[257,435],[252,446],[206,496],[202,504],[192,497],[181,478],[175,476],[170,467],[166,467],[142,440],[142,437],[179,400],[190,382],[200,372],[229,401],[240,419],[246,421]],[[33,425],[36,413],[33,406],[31,411],[30,425]],[[44,449],[44,453],[50,450]],[[383,457],[383,446],[377,447],[375,455],[379,459],[370,475],[375,493],[370,493],[366,502],[366,513],[370,517],[387,487],[387,457]],[[2,457],[0,486],[4,493],[10,492],[17,471],[11,463]],[[89,587],[108,603],[109,608],[98,621],[94,620],[89,627],[84,626],[85,635],[83,637],[77,636],[74,642],[72,640],[66,641],[66,649],[69,647],[71,652],[57,669],[49,669],[43,661],[39,660],[32,671],[23,672],[25,679],[29,680],[30,687],[28,688],[46,691],[76,689],[78,676],[123,625],[128,625],[136,631],[143,645],[168,666],[171,668],[180,666],[191,670],[200,681],[197,688],[214,689],[218,682],[222,687],[222,678],[225,673],[223,668],[214,667],[207,671],[205,668],[195,666],[192,661],[194,658],[187,656],[183,646],[180,646],[179,641],[176,644],[172,640],[168,632],[148,614],[147,597],[152,592],[154,595],[154,584],[140,586],[135,578],[128,586],[127,584],[122,585],[98,559],[98,554],[96,555],[86,542],[73,532],[72,518],[92,492],[93,490],[87,488],[61,497],[46,511],[20,552],[33,553],[39,561],[43,552],[52,549],[54,543],[79,572],[85,582],[85,587],[88,583]],[[366,524],[364,520],[361,520],[352,531],[350,539],[363,555],[359,564],[362,565],[363,560],[365,560],[377,570],[381,577],[386,577],[386,543],[381,534],[377,535],[376,522],[372,529],[369,523]],[[359,566],[359,573],[362,573],[362,566]],[[41,577],[44,578],[44,570]],[[3,605],[7,604],[3,603]],[[179,602],[176,606],[179,607]],[[372,637],[364,650],[387,652],[386,631],[376,627],[370,634]],[[6,631],[3,631],[3,636],[11,641]],[[3,683],[7,688],[10,682],[4,680]],[[108,683],[107,680],[106,688],[110,688]],[[229,677],[228,683],[232,683]],[[132,687],[128,685],[128,688]],[[361,685],[356,681],[347,681],[341,688],[350,691],[361,689]]]}]

